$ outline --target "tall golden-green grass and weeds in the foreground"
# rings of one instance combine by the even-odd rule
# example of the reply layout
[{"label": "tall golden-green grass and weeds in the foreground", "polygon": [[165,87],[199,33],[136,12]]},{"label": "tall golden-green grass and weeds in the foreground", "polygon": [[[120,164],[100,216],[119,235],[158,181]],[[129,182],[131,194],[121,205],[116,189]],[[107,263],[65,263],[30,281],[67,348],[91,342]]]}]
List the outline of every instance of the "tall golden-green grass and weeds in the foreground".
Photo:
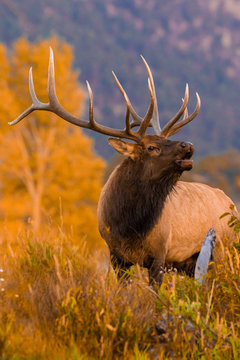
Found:
[{"label": "tall golden-green grass and weeds in the foreground", "polygon": [[0,245],[0,359],[240,358],[239,243],[203,285],[167,273],[157,293],[61,229]]}]

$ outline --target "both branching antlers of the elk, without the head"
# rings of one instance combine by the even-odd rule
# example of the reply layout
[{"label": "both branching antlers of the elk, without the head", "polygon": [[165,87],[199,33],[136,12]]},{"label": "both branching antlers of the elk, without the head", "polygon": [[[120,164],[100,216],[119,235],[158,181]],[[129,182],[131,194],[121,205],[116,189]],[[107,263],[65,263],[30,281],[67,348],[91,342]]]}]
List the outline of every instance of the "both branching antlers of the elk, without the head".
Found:
[{"label": "both branching antlers of the elk, without the head", "polygon": [[[50,47],[50,58],[49,58],[49,67],[48,67],[48,96],[49,96],[49,102],[43,103],[38,100],[35,90],[34,90],[34,83],[33,83],[33,76],[32,76],[32,68],[30,68],[29,71],[29,91],[32,98],[32,105],[25,110],[16,120],[9,123],[9,125],[15,125],[22,119],[24,119],[26,116],[31,114],[35,110],[46,110],[51,111],[52,113],[55,113],[56,115],[60,116],[64,120],[70,122],[71,124],[77,125],[82,128],[91,129],[96,132],[113,136],[113,137],[119,137],[119,138],[125,138],[130,139],[136,142],[141,141],[141,139],[144,137],[148,126],[153,126],[154,131],[157,135],[163,136],[163,137],[169,137],[175,133],[177,133],[184,125],[192,121],[196,115],[199,112],[200,109],[200,98],[199,95],[196,93],[197,96],[197,106],[195,111],[190,116],[184,116],[184,119],[180,122],[178,120],[182,117],[183,114],[186,114],[185,110],[187,109],[188,104],[188,98],[189,98],[189,90],[188,90],[188,84],[186,85],[185,90],[185,97],[183,100],[182,107],[177,112],[177,114],[164,126],[164,128],[161,130],[160,123],[159,123],[159,116],[158,116],[158,107],[157,107],[157,97],[155,92],[155,85],[153,81],[152,72],[144,59],[143,56],[142,60],[144,62],[144,65],[147,69],[148,73],[148,88],[150,93],[150,105],[148,107],[147,113],[144,118],[140,117],[136,111],[134,110],[133,106],[131,105],[131,102],[123,89],[122,85],[120,84],[118,78],[116,77],[115,73],[113,72],[113,76],[115,78],[115,81],[117,83],[117,86],[122,93],[124,100],[126,102],[126,127],[124,130],[118,130],[118,129],[112,129],[107,126],[98,124],[94,120],[93,115],[93,94],[91,87],[87,83],[87,89],[89,94],[89,120],[81,120],[73,115],[71,115],[68,111],[66,111],[63,106],[59,103],[59,100],[56,95],[55,90],[55,73],[54,73],[54,59],[53,59],[53,51]],[[130,122],[130,115],[133,118],[133,122]],[[152,124],[150,123],[152,119]],[[177,123],[178,122],[178,123]],[[137,131],[133,131],[132,128],[134,126],[139,126],[139,129]]]}]

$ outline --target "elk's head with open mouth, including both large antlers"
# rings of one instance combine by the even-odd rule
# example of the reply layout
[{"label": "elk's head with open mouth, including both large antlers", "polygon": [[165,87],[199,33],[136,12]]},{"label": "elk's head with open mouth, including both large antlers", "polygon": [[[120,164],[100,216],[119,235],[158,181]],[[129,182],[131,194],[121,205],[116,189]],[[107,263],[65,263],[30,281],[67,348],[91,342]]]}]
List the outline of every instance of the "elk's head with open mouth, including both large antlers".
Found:
[{"label": "elk's head with open mouth, including both large antlers", "polygon": [[[176,174],[181,174],[184,170],[190,170],[192,168],[192,161],[190,158],[193,154],[193,145],[187,142],[171,141],[168,139],[168,137],[176,134],[183,126],[196,117],[200,109],[200,98],[196,93],[197,106],[194,112],[189,116],[187,111],[187,104],[189,99],[189,89],[187,84],[185,89],[185,96],[180,110],[164,126],[164,128],[161,129],[158,117],[157,98],[153,76],[146,60],[143,57],[142,60],[148,73],[148,88],[150,93],[150,105],[144,118],[140,117],[136,113],[126,92],[113,72],[117,86],[126,102],[124,130],[112,129],[103,126],[94,120],[93,94],[88,82],[86,83],[89,93],[89,121],[78,119],[62,107],[56,96],[54,60],[53,51],[51,48],[48,69],[49,102],[42,103],[38,100],[34,90],[31,68],[29,72],[29,90],[33,103],[16,120],[10,122],[9,124],[14,125],[18,123],[35,110],[51,111],[71,124],[114,137],[109,139],[109,143],[118,152],[127,155],[132,161],[139,162],[141,164],[147,164],[148,166],[145,165],[144,168],[148,169],[149,174],[151,174],[153,178],[160,176],[161,172],[165,171],[165,169],[172,169],[172,172],[175,172]],[[179,121],[182,116],[183,119]],[[130,120],[130,117],[132,120]],[[133,128],[136,126],[138,126],[138,130],[134,131]],[[149,126],[154,128],[156,135],[145,135]],[[123,138],[132,140],[133,142],[126,142],[121,140]]]}]

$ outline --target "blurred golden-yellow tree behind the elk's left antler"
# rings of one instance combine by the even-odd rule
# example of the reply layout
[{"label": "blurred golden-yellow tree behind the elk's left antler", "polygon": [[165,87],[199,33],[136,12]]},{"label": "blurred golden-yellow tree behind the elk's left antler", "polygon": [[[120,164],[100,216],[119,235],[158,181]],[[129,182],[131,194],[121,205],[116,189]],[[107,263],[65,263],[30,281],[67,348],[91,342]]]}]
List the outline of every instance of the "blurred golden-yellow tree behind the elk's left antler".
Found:
[{"label": "blurred golden-yellow tree behind the elk's left antler", "polygon": [[[81,114],[84,92],[78,72],[72,70],[72,48],[56,37],[35,44],[20,39],[6,62],[10,68],[6,84],[15,107],[11,119],[3,117],[0,108],[1,124],[30,106],[30,66],[39,99],[48,101],[49,45],[55,54],[57,96],[68,111]],[[2,126],[6,129],[0,134],[2,220],[15,228],[32,226],[35,232],[62,223],[96,242],[96,207],[105,164],[94,153],[92,141],[81,129],[43,111],[14,128]]]}]

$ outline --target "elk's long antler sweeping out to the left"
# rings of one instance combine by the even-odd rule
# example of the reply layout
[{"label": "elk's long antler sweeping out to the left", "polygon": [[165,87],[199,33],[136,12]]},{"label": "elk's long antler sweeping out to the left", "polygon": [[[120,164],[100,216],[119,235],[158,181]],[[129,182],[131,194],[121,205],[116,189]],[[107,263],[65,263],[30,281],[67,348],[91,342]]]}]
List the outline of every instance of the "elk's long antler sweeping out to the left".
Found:
[{"label": "elk's long antler sweeping out to the left", "polygon": [[[114,76],[115,76],[115,74],[114,74]],[[115,76],[115,79],[117,81],[116,76]],[[142,139],[142,137],[144,136],[144,134],[145,134],[145,132],[146,132],[146,130],[147,130],[149,124],[150,124],[150,121],[151,121],[151,118],[152,118],[152,115],[153,115],[153,111],[154,111],[155,98],[154,98],[154,94],[153,94],[153,86],[152,86],[151,81],[148,84],[149,92],[150,92],[150,105],[149,105],[148,111],[147,111],[144,118],[139,117],[134,112],[126,93],[123,92],[124,99],[125,99],[126,105],[127,105],[126,128],[124,130],[112,129],[112,128],[109,128],[107,126],[98,124],[94,120],[94,116],[93,116],[93,94],[92,94],[92,90],[91,90],[91,87],[90,87],[88,81],[86,83],[87,83],[87,89],[88,89],[88,93],[89,93],[89,121],[84,121],[84,120],[78,119],[77,117],[71,115],[59,103],[59,100],[58,100],[57,95],[56,95],[56,90],[55,90],[55,72],[54,72],[53,51],[52,51],[52,49],[50,47],[50,58],[49,58],[49,67],[48,67],[48,96],[49,96],[49,102],[48,103],[42,103],[41,101],[38,100],[38,98],[36,96],[36,93],[35,93],[35,90],[34,90],[32,68],[30,68],[30,71],[29,71],[29,91],[30,91],[30,95],[31,95],[33,103],[27,110],[25,110],[21,115],[19,115],[19,117],[16,120],[10,122],[9,125],[17,124],[19,121],[24,119],[26,116],[28,116],[29,114],[31,114],[35,110],[46,110],[46,111],[51,111],[52,113],[55,113],[56,115],[60,116],[64,120],[70,122],[71,124],[77,125],[79,127],[86,128],[86,129],[91,129],[91,130],[97,131],[97,132],[105,134],[105,135],[130,139],[130,140],[134,140],[136,142],[139,142]],[[117,84],[118,84],[118,81],[117,81]],[[135,119],[135,123],[134,122],[130,123],[130,114]],[[138,131],[133,131],[132,127],[136,126],[136,125],[139,125],[139,129],[138,129]]]}]

